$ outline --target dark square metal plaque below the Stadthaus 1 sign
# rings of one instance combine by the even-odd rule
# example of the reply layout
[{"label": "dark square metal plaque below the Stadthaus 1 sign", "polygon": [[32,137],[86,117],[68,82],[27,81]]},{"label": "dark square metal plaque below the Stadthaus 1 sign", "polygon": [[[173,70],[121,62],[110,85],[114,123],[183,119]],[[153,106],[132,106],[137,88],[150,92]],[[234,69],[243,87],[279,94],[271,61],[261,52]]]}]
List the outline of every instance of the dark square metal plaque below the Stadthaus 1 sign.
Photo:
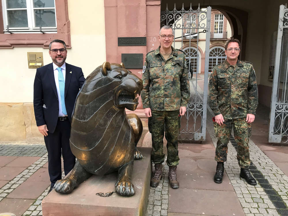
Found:
[{"label": "dark square metal plaque below the Stadthaus 1 sign", "polygon": [[122,53],[121,61],[127,69],[142,69],[143,53]]}]

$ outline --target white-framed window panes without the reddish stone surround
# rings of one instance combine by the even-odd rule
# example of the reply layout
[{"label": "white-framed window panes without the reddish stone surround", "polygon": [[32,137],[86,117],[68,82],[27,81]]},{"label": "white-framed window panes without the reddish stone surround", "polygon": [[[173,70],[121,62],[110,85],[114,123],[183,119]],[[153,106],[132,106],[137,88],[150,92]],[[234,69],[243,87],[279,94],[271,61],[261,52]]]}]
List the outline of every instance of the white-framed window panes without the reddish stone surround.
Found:
[{"label": "white-framed window panes without the reddish stone surround", "polygon": [[[57,31],[54,0],[3,0],[4,32]],[[8,26],[8,29],[7,29]]]}]

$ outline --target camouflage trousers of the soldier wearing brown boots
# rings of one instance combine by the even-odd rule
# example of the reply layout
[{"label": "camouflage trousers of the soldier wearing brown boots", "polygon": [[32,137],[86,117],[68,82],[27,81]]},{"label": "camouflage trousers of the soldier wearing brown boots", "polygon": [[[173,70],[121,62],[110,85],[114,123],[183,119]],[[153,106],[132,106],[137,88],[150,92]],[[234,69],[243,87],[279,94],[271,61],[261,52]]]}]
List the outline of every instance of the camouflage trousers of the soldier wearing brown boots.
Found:
[{"label": "camouflage trousers of the soldier wearing brown boots", "polygon": [[151,110],[152,116],[148,118],[148,128],[152,135],[151,160],[154,164],[164,162],[163,138],[167,140],[167,160],[168,166],[179,164],[178,156],[178,134],[180,129],[179,110],[157,111]]}]

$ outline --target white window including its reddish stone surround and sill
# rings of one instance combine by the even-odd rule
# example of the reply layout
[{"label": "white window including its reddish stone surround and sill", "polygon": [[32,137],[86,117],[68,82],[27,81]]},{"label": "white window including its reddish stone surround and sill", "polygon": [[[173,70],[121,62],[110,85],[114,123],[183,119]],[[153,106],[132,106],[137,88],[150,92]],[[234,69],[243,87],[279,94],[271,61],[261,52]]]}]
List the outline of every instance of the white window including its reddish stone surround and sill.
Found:
[{"label": "white window including its reddish stone surround and sill", "polygon": [[67,48],[71,48],[68,0],[0,0],[0,2],[0,12],[3,14],[0,16],[0,48],[16,46],[48,48],[53,39],[63,40]]}]

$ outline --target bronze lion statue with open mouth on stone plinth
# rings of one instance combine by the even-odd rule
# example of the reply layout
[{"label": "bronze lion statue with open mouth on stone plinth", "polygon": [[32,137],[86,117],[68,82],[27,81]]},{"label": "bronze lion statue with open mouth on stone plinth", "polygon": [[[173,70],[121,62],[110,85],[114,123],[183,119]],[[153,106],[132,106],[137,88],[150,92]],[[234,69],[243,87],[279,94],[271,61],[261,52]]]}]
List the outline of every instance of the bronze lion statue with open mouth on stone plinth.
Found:
[{"label": "bronze lion statue with open mouth on stone plinth", "polygon": [[122,196],[135,194],[131,182],[134,159],[143,158],[137,149],[143,126],[134,111],[142,80],[124,65],[104,62],[86,79],[76,98],[71,122],[70,147],[77,161],[54,189],[68,194],[92,174],[118,170],[115,190]]}]

